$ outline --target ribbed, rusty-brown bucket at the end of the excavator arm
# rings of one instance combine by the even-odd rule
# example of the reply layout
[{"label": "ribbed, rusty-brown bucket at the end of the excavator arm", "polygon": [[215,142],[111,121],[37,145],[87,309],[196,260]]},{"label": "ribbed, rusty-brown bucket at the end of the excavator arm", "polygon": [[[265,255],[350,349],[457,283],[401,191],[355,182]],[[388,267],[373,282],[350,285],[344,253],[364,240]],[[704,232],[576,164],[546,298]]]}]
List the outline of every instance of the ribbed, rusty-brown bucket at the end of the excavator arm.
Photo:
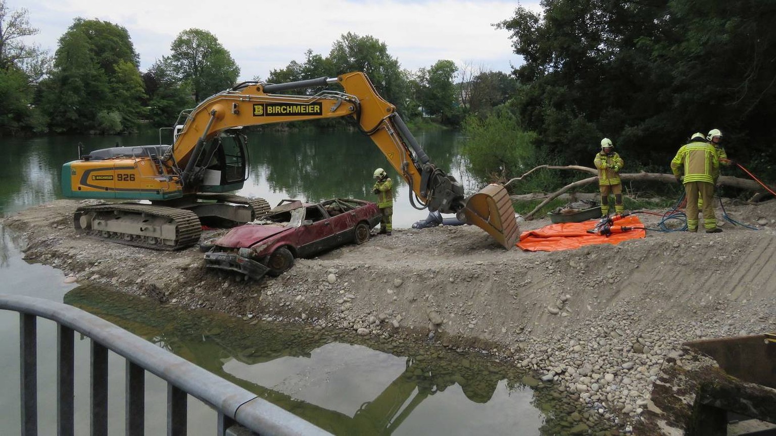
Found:
[{"label": "ribbed, rusty-brown bucket at the end of the excavator arm", "polygon": [[466,200],[463,208],[466,222],[487,231],[491,237],[510,250],[520,237],[518,220],[509,193],[503,185],[487,185]]}]

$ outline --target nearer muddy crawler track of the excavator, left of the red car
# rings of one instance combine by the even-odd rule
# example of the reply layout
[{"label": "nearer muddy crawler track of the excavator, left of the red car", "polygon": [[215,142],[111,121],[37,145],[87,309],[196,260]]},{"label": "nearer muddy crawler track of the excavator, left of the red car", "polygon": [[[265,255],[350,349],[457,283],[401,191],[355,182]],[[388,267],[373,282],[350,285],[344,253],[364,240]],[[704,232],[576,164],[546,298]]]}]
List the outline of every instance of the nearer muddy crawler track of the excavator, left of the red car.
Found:
[{"label": "nearer muddy crawler track of the excavator, left of the red car", "polygon": [[162,251],[192,247],[202,234],[196,213],[140,203],[81,206],[73,224],[77,232],[91,237]]}]

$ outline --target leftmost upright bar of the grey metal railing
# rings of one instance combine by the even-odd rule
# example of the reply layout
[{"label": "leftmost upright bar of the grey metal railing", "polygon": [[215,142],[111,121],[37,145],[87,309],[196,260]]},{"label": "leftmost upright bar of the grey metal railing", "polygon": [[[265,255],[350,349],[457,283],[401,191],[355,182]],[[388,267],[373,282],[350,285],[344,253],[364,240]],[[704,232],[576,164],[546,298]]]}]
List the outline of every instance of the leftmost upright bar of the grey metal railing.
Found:
[{"label": "leftmost upright bar of the grey metal railing", "polygon": [[22,369],[20,382],[22,394],[22,434],[38,434],[38,356],[36,316],[19,314],[19,357]]}]

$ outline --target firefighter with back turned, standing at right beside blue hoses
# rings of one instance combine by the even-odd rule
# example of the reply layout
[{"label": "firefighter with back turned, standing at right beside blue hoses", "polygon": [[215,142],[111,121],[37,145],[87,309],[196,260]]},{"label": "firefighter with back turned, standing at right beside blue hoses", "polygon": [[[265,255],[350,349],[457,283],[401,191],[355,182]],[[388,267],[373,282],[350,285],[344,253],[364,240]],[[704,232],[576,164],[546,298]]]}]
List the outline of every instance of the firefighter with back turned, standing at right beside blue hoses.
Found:
[{"label": "firefighter with back turned, standing at right beside blue hoses", "polygon": [[[712,144],[706,142],[703,133],[694,133],[690,143],[679,148],[677,155],[671,160],[671,171],[677,182],[684,185],[687,196],[687,230],[698,231],[698,196],[711,199],[714,196],[714,175],[719,173],[719,159]],[[684,178],[681,176],[684,172]],[[722,231],[717,227],[714,215],[714,203],[703,204],[703,227],[707,234]]]}]

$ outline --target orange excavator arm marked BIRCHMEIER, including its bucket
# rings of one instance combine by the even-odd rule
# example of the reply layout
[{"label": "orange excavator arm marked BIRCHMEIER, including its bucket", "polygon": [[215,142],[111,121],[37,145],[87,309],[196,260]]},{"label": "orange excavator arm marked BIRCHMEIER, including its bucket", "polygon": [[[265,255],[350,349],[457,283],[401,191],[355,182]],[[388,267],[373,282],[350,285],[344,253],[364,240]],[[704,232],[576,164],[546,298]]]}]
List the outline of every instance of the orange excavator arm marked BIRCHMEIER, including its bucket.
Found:
[{"label": "orange excavator arm marked BIRCHMEIER, including its bucket", "polygon": [[[279,94],[334,84],[341,85],[344,92]],[[507,249],[514,247],[519,230],[504,186],[488,185],[467,199],[460,182],[431,163],[396,106],[380,97],[361,72],[283,84],[244,82],[230,91],[213,95],[192,110],[174,146],[161,161],[179,175],[184,189],[196,189],[206,166],[206,144],[223,130],[341,117],[358,123],[362,133],[369,136],[404,177],[411,189],[411,204],[416,209],[456,213],[459,220],[487,231]]]}]

